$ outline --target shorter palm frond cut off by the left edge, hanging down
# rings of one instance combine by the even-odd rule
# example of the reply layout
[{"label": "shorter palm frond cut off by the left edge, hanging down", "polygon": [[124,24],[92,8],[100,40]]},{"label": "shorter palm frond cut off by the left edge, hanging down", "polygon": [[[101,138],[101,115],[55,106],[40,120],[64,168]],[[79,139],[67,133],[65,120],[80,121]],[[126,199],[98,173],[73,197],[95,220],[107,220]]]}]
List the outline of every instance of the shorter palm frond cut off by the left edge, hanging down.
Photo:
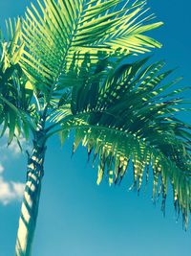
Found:
[{"label": "shorter palm frond cut off by the left edge, hanging down", "polygon": [[18,64],[24,44],[20,39],[21,23],[18,18],[7,22],[7,36],[0,38],[0,125],[1,136],[9,129],[9,143],[21,128],[29,133],[27,113],[32,113],[32,84],[22,77]]}]

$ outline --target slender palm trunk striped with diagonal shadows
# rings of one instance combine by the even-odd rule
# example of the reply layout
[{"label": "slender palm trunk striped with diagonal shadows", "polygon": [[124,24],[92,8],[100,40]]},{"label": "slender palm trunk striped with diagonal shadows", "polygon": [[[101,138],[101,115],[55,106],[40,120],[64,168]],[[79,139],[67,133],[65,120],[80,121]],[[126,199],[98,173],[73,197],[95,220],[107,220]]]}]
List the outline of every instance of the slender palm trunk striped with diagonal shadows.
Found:
[{"label": "slender palm trunk striped with diagonal shadows", "polygon": [[36,133],[33,141],[32,155],[28,155],[27,181],[21,206],[21,215],[17,231],[15,255],[32,255],[32,240],[38,215],[38,204],[41,182],[44,175],[44,157],[46,146],[42,140],[42,133]]}]

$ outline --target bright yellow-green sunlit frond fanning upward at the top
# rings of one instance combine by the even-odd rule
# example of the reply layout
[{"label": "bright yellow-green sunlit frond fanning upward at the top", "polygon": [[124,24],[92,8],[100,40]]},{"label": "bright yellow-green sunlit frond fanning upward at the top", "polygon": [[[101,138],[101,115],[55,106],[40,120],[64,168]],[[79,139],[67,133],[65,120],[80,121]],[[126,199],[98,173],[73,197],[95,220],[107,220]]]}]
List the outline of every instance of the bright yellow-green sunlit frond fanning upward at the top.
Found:
[{"label": "bright yellow-green sunlit frond fanning upward at the top", "polygon": [[[146,1],[42,0],[23,19],[21,64],[32,83],[47,94],[60,89],[62,75],[88,53],[120,56],[149,51],[159,42],[144,35],[162,23],[146,15]],[[74,59],[75,56],[75,59]],[[73,63],[74,61],[74,63]],[[57,84],[59,83],[59,86]],[[62,82],[62,86],[67,84]]]}]

